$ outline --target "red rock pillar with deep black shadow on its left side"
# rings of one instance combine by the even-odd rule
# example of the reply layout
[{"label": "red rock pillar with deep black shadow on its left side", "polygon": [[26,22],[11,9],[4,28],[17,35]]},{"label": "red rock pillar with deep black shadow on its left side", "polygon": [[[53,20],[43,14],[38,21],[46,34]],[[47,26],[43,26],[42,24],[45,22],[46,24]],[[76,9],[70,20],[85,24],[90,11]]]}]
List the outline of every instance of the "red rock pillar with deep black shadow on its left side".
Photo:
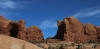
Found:
[{"label": "red rock pillar with deep black shadow on its left side", "polygon": [[26,27],[24,20],[20,20],[19,22],[11,21],[9,23],[9,29],[10,36],[26,40]]}]

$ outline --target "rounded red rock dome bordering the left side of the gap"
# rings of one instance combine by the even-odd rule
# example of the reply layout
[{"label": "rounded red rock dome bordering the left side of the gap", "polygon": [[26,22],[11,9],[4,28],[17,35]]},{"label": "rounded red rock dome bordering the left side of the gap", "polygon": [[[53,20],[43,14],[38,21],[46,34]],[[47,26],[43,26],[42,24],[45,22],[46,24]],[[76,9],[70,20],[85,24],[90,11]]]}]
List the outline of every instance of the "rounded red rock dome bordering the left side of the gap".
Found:
[{"label": "rounded red rock dome bordering the left side of the gap", "polygon": [[29,42],[43,40],[42,31],[37,26],[27,28],[26,38]]}]

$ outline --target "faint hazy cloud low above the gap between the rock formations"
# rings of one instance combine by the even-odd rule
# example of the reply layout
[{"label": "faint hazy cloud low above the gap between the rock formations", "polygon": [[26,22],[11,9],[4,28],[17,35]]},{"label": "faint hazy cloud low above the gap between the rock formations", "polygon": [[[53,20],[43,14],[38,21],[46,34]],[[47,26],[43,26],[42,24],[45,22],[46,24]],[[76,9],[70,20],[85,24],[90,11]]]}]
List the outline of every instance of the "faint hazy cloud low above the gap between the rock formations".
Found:
[{"label": "faint hazy cloud low above the gap between the rock formations", "polygon": [[55,27],[57,27],[56,22],[50,20],[45,20],[40,25],[40,28],[42,29],[55,28]]}]

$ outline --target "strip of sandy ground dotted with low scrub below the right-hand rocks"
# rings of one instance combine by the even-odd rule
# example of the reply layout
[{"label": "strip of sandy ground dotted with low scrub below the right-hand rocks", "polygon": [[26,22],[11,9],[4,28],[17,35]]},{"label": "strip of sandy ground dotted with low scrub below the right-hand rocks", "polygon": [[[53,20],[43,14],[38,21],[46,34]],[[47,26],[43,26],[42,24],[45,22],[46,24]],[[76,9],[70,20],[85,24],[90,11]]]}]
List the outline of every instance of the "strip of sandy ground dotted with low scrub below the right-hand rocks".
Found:
[{"label": "strip of sandy ground dotted with low scrub below the right-hand rocks", "polygon": [[[46,42],[46,41],[45,41]],[[100,44],[97,44],[96,42],[89,42],[89,43],[45,43],[45,42],[36,42],[33,43],[43,49],[63,49],[63,48],[71,48],[71,49],[84,49],[84,48],[89,48],[89,49],[96,49],[97,47],[100,47]]]}]

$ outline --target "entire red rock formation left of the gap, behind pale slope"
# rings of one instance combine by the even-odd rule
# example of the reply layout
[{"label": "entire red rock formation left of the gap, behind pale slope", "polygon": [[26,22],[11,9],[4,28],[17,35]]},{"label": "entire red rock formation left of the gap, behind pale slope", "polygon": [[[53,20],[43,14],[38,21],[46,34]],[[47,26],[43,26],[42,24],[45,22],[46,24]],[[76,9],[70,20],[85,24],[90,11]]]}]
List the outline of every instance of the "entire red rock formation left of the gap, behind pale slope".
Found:
[{"label": "entire red rock formation left of the gap, behind pale slope", "polygon": [[29,42],[41,41],[44,39],[42,31],[38,27],[32,26],[26,28],[25,23],[26,22],[24,20],[11,21],[5,19],[3,16],[0,16],[0,34]]}]

